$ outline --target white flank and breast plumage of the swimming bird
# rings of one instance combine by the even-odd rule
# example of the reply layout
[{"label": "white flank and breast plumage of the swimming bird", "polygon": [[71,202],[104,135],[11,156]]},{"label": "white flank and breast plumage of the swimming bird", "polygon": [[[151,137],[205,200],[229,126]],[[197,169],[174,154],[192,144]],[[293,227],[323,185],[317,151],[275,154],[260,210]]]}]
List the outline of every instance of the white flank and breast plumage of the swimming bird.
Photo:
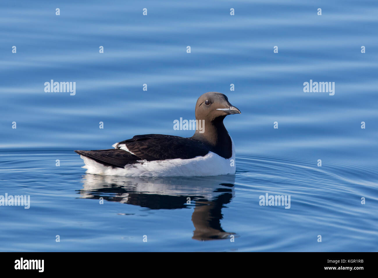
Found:
[{"label": "white flank and breast plumage of the swimming bird", "polygon": [[[155,160],[129,164],[126,165],[125,168],[113,168],[111,166],[105,166],[101,163],[95,162],[94,160],[84,157],[83,155],[81,155],[81,158],[84,160],[85,166],[83,166],[83,168],[87,169],[87,174],[118,175],[125,177],[189,177],[235,174],[235,146],[232,138],[231,141],[232,157],[228,159],[220,157],[214,152],[209,152],[205,156],[198,156],[191,159],[175,158]],[[120,146],[121,147],[119,149],[128,151],[126,146]],[[231,163],[231,160],[234,160],[234,162]]]}]

